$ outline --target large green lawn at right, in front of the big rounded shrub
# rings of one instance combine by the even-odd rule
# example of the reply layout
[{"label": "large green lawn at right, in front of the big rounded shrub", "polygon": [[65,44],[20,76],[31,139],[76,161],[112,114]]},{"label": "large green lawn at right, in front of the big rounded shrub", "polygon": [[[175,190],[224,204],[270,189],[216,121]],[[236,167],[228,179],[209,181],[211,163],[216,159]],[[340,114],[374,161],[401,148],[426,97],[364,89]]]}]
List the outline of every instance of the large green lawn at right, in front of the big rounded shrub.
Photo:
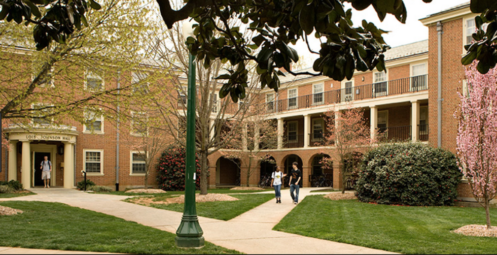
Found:
[{"label": "large green lawn at right, in front of the big rounded shrub", "polygon": [[[497,222],[497,209],[490,213]],[[308,196],[274,230],[409,254],[495,254],[495,237],[450,232],[485,222],[483,208],[388,206]]]}]

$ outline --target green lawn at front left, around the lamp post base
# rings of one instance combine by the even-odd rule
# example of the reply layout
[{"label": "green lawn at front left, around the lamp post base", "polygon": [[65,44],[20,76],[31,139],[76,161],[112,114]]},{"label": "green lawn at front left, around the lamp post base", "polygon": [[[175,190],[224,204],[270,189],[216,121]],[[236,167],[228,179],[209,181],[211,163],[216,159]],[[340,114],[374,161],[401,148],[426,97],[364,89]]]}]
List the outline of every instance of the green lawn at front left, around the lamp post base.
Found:
[{"label": "green lawn at front left, around the lamp post base", "polygon": [[208,242],[200,249],[177,248],[174,234],[60,203],[0,204],[24,211],[0,216],[0,246],[137,254],[239,253]]}]

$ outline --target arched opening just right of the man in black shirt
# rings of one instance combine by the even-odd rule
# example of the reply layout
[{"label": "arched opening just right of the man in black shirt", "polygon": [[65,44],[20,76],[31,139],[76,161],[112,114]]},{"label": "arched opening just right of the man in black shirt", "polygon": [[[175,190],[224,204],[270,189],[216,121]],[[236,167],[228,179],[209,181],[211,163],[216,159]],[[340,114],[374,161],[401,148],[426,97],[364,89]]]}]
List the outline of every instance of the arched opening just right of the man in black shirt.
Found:
[{"label": "arched opening just right of the man in black shirt", "polygon": [[311,187],[333,186],[333,161],[330,155],[316,154],[311,162]]}]

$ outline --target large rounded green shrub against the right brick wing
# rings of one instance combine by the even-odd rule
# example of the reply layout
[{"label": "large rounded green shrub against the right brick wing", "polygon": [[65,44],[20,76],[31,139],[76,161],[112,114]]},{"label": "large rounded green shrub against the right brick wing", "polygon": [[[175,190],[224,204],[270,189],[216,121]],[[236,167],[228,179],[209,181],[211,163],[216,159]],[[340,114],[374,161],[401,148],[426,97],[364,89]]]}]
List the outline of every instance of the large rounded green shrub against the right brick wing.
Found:
[{"label": "large rounded green shrub against the right brick wing", "polygon": [[380,145],[364,156],[356,196],[378,204],[452,205],[461,176],[449,151],[421,143]]}]

